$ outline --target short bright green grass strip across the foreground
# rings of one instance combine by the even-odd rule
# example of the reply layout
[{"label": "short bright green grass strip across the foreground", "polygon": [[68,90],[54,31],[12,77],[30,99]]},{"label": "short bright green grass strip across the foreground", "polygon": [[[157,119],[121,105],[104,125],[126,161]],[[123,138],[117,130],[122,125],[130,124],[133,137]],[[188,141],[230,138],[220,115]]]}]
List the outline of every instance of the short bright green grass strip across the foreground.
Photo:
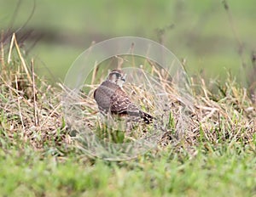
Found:
[{"label": "short bright green grass strip across the foreground", "polygon": [[31,148],[1,150],[1,194],[255,195],[255,149],[241,144],[204,144],[195,149],[193,158],[169,146],[123,162],[90,160],[74,153],[61,158]]}]

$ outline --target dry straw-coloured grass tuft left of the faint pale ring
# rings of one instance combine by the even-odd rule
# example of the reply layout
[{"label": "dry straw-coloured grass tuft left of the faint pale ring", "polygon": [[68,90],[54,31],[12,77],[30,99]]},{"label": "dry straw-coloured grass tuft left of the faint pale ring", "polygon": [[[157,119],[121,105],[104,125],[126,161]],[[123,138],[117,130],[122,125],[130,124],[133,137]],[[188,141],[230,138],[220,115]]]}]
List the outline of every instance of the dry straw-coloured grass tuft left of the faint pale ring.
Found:
[{"label": "dry straw-coloured grass tuft left of the faint pale ring", "polygon": [[[1,53],[0,126],[4,138],[43,149],[44,144],[70,144],[61,112],[61,88],[50,86],[34,73],[15,39]],[[0,143],[1,144],[1,143]]]}]

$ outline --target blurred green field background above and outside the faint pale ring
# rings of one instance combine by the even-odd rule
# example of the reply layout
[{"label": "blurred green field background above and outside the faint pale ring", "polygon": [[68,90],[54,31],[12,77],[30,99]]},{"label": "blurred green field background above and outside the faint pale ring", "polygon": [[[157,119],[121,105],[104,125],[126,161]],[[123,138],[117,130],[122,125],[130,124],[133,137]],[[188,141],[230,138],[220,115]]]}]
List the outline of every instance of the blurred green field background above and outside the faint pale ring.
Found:
[{"label": "blurred green field background above and outside the faint pale ring", "polygon": [[[256,49],[255,0],[0,0],[0,27],[17,32],[39,75],[63,81],[92,42],[146,37],[184,61],[190,75],[244,75]],[[8,42],[8,40],[6,40]]]}]

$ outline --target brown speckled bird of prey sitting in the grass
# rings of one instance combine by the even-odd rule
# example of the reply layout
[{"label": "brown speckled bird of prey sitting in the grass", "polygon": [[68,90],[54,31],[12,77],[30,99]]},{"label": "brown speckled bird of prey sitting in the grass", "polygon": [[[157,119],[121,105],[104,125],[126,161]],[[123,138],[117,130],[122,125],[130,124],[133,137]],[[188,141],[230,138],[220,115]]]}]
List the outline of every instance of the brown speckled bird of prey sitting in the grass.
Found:
[{"label": "brown speckled bird of prey sitting in the grass", "polygon": [[96,88],[94,99],[98,105],[98,109],[103,115],[110,113],[111,115],[130,115],[138,117],[146,124],[154,120],[153,115],[144,112],[123,90],[126,74],[122,70],[112,70],[107,79]]}]

